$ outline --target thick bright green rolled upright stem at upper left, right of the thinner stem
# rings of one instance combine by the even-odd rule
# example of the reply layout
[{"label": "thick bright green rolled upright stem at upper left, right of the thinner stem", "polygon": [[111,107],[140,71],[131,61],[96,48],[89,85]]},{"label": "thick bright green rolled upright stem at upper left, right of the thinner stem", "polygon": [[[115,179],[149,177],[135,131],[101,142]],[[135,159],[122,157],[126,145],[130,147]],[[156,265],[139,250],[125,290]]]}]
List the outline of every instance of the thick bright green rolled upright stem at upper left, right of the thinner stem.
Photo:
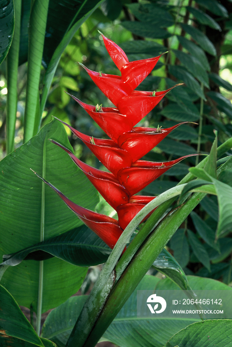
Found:
[{"label": "thick bright green rolled upright stem at upper left, right of the thinner stem", "polygon": [[24,142],[39,130],[39,84],[49,0],[34,0],[29,24],[27,94],[24,115]]}]

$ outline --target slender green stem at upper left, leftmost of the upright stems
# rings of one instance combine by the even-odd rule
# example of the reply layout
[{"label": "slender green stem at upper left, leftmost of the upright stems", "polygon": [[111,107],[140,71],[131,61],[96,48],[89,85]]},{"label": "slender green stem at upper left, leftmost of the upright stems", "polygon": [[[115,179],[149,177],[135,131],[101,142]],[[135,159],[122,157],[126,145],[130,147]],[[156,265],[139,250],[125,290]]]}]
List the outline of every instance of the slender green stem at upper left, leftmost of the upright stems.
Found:
[{"label": "slender green stem at upper left, leftmost of the upright stems", "polygon": [[14,133],[17,113],[17,76],[20,44],[21,0],[14,0],[15,27],[11,47],[6,58],[7,74],[7,115],[6,115],[6,153],[14,150]]}]

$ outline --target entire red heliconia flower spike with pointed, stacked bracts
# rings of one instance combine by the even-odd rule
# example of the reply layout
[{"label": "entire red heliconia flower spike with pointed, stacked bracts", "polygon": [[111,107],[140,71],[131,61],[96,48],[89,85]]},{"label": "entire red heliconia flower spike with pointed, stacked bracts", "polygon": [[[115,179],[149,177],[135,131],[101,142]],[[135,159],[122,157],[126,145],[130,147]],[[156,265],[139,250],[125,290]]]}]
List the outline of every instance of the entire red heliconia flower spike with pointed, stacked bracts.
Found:
[{"label": "entire red heliconia flower spike with pointed, stacked bracts", "polygon": [[172,130],[186,123],[179,123],[167,129],[162,129],[159,126],[158,128],[134,127],[175,86],[160,92],[134,90],[152,71],[161,56],[129,62],[119,46],[104,35],[102,36],[107,51],[121,75],[95,72],[81,65],[116,108],[88,105],[75,96],[71,96],[106,132],[110,139],[93,138],[80,133],[64,122],[62,123],[67,125],[86,144],[110,172],[92,168],[76,158],[69,149],[54,140],[51,141],[68,153],[105,200],[116,210],[118,221],[74,204],[51,183],[44,181],[59,194],[65,204],[90,229],[113,248],[122,230],[147,203],[154,199],[151,196],[134,194],[189,156],[164,163],[140,160]]}]

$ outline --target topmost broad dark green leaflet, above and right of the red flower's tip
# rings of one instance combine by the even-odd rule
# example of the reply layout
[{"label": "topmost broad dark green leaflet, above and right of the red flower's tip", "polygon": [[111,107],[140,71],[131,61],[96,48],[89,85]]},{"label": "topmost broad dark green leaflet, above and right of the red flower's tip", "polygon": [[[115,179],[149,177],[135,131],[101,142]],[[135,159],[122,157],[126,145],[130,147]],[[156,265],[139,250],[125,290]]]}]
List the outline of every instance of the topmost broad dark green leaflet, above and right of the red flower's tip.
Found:
[{"label": "topmost broad dark green leaflet, above and right of the red flower's tip", "polygon": [[154,3],[130,3],[127,4],[129,10],[141,22],[149,22],[161,28],[167,28],[174,25],[172,15],[164,8],[156,6]]}]

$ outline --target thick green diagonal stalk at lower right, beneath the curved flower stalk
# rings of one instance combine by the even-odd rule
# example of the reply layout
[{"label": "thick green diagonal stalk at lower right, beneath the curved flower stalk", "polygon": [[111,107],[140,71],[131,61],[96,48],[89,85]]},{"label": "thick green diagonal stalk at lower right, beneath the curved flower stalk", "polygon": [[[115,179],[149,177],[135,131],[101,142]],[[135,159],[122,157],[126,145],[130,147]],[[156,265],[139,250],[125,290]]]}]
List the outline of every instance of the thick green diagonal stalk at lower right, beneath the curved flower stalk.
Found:
[{"label": "thick green diagonal stalk at lower right, beneath the curved flower stalk", "polygon": [[[176,209],[153,231],[144,244],[140,247],[135,256],[131,259],[129,265],[124,270],[120,279],[116,282],[109,298],[106,301],[98,320],[86,341],[82,344],[75,341],[75,344],[67,345],[68,347],[94,347],[117,313],[124,305],[126,300],[132,294],[139,282],[145,276],[152,266],[153,262],[165,247],[167,242],[173,236],[174,232],[184,222],[189,213],[197,206],[197,204],[205,197],[205,193],[196,193],[183,206]],[[115,272],[121,269],[122,258],[116,265]]]}]

